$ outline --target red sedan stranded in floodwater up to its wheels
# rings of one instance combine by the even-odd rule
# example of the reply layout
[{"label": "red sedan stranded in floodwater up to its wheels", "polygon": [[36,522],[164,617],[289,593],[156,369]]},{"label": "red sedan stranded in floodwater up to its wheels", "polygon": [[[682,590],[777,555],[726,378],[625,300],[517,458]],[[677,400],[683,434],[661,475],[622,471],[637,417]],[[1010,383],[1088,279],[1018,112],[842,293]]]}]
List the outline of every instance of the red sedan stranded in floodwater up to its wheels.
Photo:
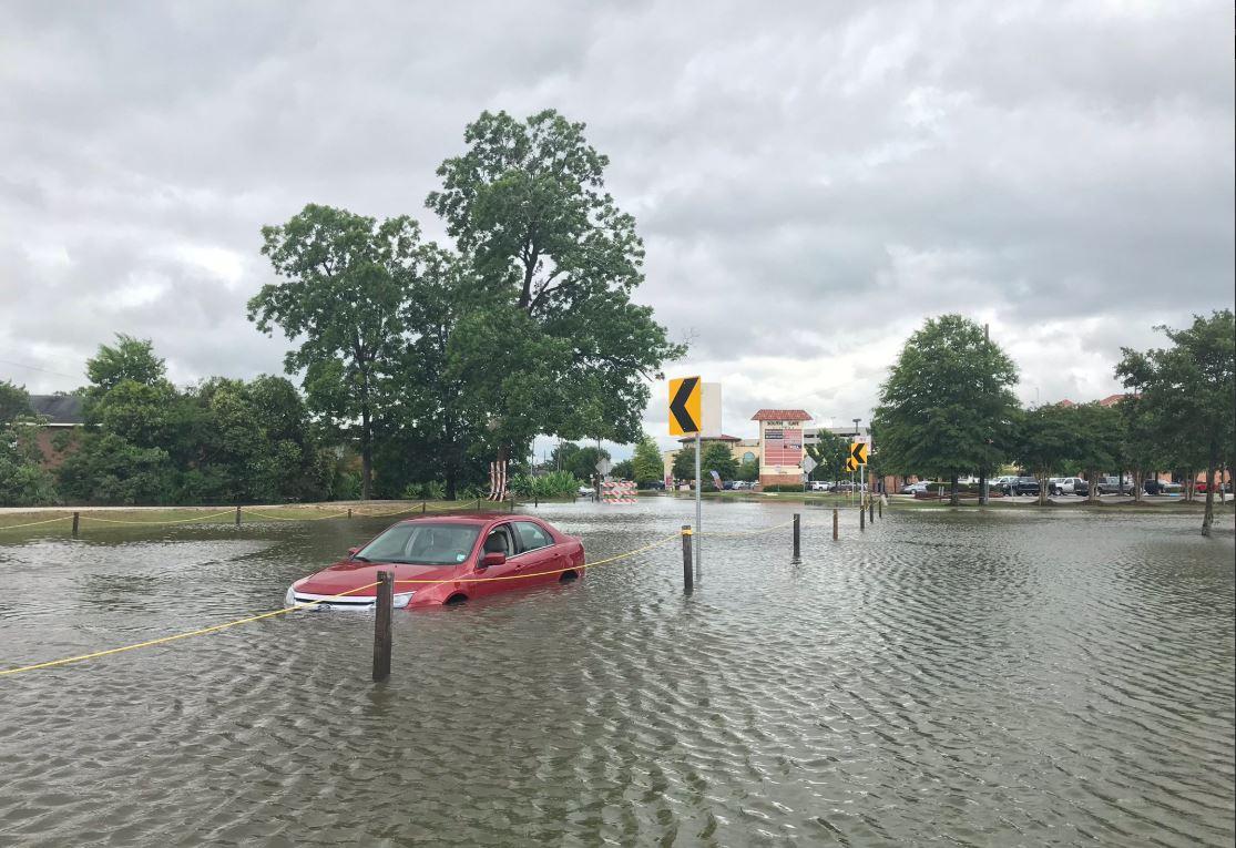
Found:
[{"label": "red sedan stranded in floodwater up to its wheels", "polygon": [[292,583],[286,600],[288,606],[325,601],[313,609],[372,609],[373,586],[334,596],[377,582],[378,571],[394,572],[396,608],[439,607],[582,577],[583,545],[531,515],[413,518],[351,549],[346,560]]}]

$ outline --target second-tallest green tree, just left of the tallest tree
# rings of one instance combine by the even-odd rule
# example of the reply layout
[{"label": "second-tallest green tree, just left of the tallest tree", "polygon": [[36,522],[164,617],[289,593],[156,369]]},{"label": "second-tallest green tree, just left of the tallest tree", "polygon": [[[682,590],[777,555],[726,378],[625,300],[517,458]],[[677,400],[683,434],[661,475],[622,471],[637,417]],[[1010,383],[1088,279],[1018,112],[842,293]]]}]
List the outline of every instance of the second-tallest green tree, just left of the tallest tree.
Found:
[{"label": "second-tallest green tree, just left of the tallest tree", "polygon": [[298,342],[284,366],[304,371],[315,413],[355,434],[361,497],[368,499],[379,368],[403,344],[402,307],[420,271],[420,227],[405,216],[378,223],[309,204],[286,224],[262,227],[262,253],[283,282],[253,295],[248,318],[263,333],[278,325]]}]

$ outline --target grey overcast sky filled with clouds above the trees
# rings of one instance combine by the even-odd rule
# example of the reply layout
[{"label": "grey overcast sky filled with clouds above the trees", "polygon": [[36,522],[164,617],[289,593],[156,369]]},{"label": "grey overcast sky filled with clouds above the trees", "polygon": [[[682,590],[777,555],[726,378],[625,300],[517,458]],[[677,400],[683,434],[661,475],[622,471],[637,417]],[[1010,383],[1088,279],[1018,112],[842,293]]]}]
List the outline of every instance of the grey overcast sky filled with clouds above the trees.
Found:
[{"label": "grey overcast sky filled with clouds above the trees", "polygon": [[[0,378],[114,333],[179,383],[278,373],[258,229],[424,208],[483,110],[611,157],[651,304],[759,407],[868,418],[926,316],[991,325],[1027,402],[1234,300],[1230,2],[0,5]],[[662,443],[664,387],[649,431]]]}]

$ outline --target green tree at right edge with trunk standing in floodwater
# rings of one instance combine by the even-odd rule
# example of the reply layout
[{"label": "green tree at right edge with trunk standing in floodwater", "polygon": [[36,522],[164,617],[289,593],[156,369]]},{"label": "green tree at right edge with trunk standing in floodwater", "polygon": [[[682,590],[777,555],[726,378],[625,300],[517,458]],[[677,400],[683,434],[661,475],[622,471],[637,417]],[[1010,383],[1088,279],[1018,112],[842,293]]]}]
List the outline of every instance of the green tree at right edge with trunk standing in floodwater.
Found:
[{"label": "green tree at right edge with trunk standing in floodwater", "polygon": [[1189,441],[1204,456],[1206,509],[1203,535],[1214,524],[1215,471],[1236,444],[1236,318],[1222,309],[1194,315],[1184,330],[1159,326],[1170,347],[1124,349],[1116,375],[1141,393],[1164,439]]}]

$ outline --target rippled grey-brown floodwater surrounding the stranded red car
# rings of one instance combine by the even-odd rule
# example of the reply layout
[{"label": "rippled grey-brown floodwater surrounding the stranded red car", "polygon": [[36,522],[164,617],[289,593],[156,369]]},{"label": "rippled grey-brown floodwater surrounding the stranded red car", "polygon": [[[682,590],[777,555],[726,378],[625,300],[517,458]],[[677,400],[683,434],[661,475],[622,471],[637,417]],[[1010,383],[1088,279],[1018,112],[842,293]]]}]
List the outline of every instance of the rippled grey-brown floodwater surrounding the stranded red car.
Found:
[{"label": "rippled grey-brown floodwater surrounding the stranded red car", "polygon": [[[692,504],[529,509],[601,559]],[[707,504],[705,530],[789,519]],[[564,587],[0,677],[0,844],[1230,846],[1234,534],[803,511]],[[0,535],[0,668],[278,608],[386,520]]]}]

